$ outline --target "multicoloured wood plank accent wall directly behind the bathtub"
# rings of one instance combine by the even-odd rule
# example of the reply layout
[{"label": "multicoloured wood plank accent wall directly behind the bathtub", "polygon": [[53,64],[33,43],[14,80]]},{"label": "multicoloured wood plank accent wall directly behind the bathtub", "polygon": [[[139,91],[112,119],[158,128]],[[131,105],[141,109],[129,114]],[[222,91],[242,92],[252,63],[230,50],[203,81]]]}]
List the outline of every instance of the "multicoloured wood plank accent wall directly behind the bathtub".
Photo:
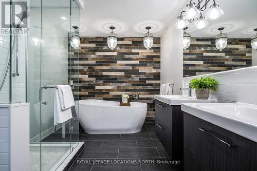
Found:
[{"label": "multicoloured wood plank accent wall directly behind the bathtub", "polygon": [[160,89],[160,38],[155,38],[153,47],[147,50],[142,37],[120,37],[117,48],[111,50],[106,37],[81,37],[80,48],[79,54],[71,51],[69,69],[74,93],[80,94],[81,100],[120,101],[121,94],[138,92],[138,102],[148,103],[147,118],[155,118],[154,94],[159,94]]}]

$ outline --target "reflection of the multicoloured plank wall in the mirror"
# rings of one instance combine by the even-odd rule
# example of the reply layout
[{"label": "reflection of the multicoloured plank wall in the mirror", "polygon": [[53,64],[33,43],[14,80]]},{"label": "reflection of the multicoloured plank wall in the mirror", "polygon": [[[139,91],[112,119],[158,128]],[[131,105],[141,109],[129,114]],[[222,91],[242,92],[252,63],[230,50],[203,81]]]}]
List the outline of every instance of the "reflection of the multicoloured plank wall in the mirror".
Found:
[{"label": "reflection of the multicoloured plank wall in the mirror", "polygon": [[250,39],[228,39],[223,51],[215,47],[215,37],[191,38],[183,51],[183,77],[226,71],[252,65]]}]

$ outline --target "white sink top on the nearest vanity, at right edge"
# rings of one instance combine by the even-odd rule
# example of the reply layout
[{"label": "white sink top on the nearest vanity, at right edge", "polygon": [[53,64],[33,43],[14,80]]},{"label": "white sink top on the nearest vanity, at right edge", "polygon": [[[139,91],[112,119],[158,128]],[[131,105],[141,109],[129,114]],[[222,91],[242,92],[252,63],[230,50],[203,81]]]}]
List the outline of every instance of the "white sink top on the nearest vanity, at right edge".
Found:
[{"label": "white sink top on the nearest vanity, at right edge", "polygon": [[194,103],[182,104],[181,110],[257,142],[257,105]]}]

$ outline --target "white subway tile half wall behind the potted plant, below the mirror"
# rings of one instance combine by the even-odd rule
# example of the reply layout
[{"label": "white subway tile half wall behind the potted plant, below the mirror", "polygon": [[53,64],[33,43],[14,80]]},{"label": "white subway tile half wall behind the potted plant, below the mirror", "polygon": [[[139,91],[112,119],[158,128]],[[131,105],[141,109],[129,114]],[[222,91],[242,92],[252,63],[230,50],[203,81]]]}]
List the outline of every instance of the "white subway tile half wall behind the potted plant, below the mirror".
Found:
[{"label": "white subway tile half wall behind the potted plant, below the mirror", "polygon": [[[210,98],[257,104],[257,66],[205,75],[214,77],[219,82],[217,91],[211,91]],[[187,86],[190,80],[201,76],[183,78],[183,86]],[[183,94],[188,92],[183,91]],[[193,96],[195,96],[194,90]]]}]

